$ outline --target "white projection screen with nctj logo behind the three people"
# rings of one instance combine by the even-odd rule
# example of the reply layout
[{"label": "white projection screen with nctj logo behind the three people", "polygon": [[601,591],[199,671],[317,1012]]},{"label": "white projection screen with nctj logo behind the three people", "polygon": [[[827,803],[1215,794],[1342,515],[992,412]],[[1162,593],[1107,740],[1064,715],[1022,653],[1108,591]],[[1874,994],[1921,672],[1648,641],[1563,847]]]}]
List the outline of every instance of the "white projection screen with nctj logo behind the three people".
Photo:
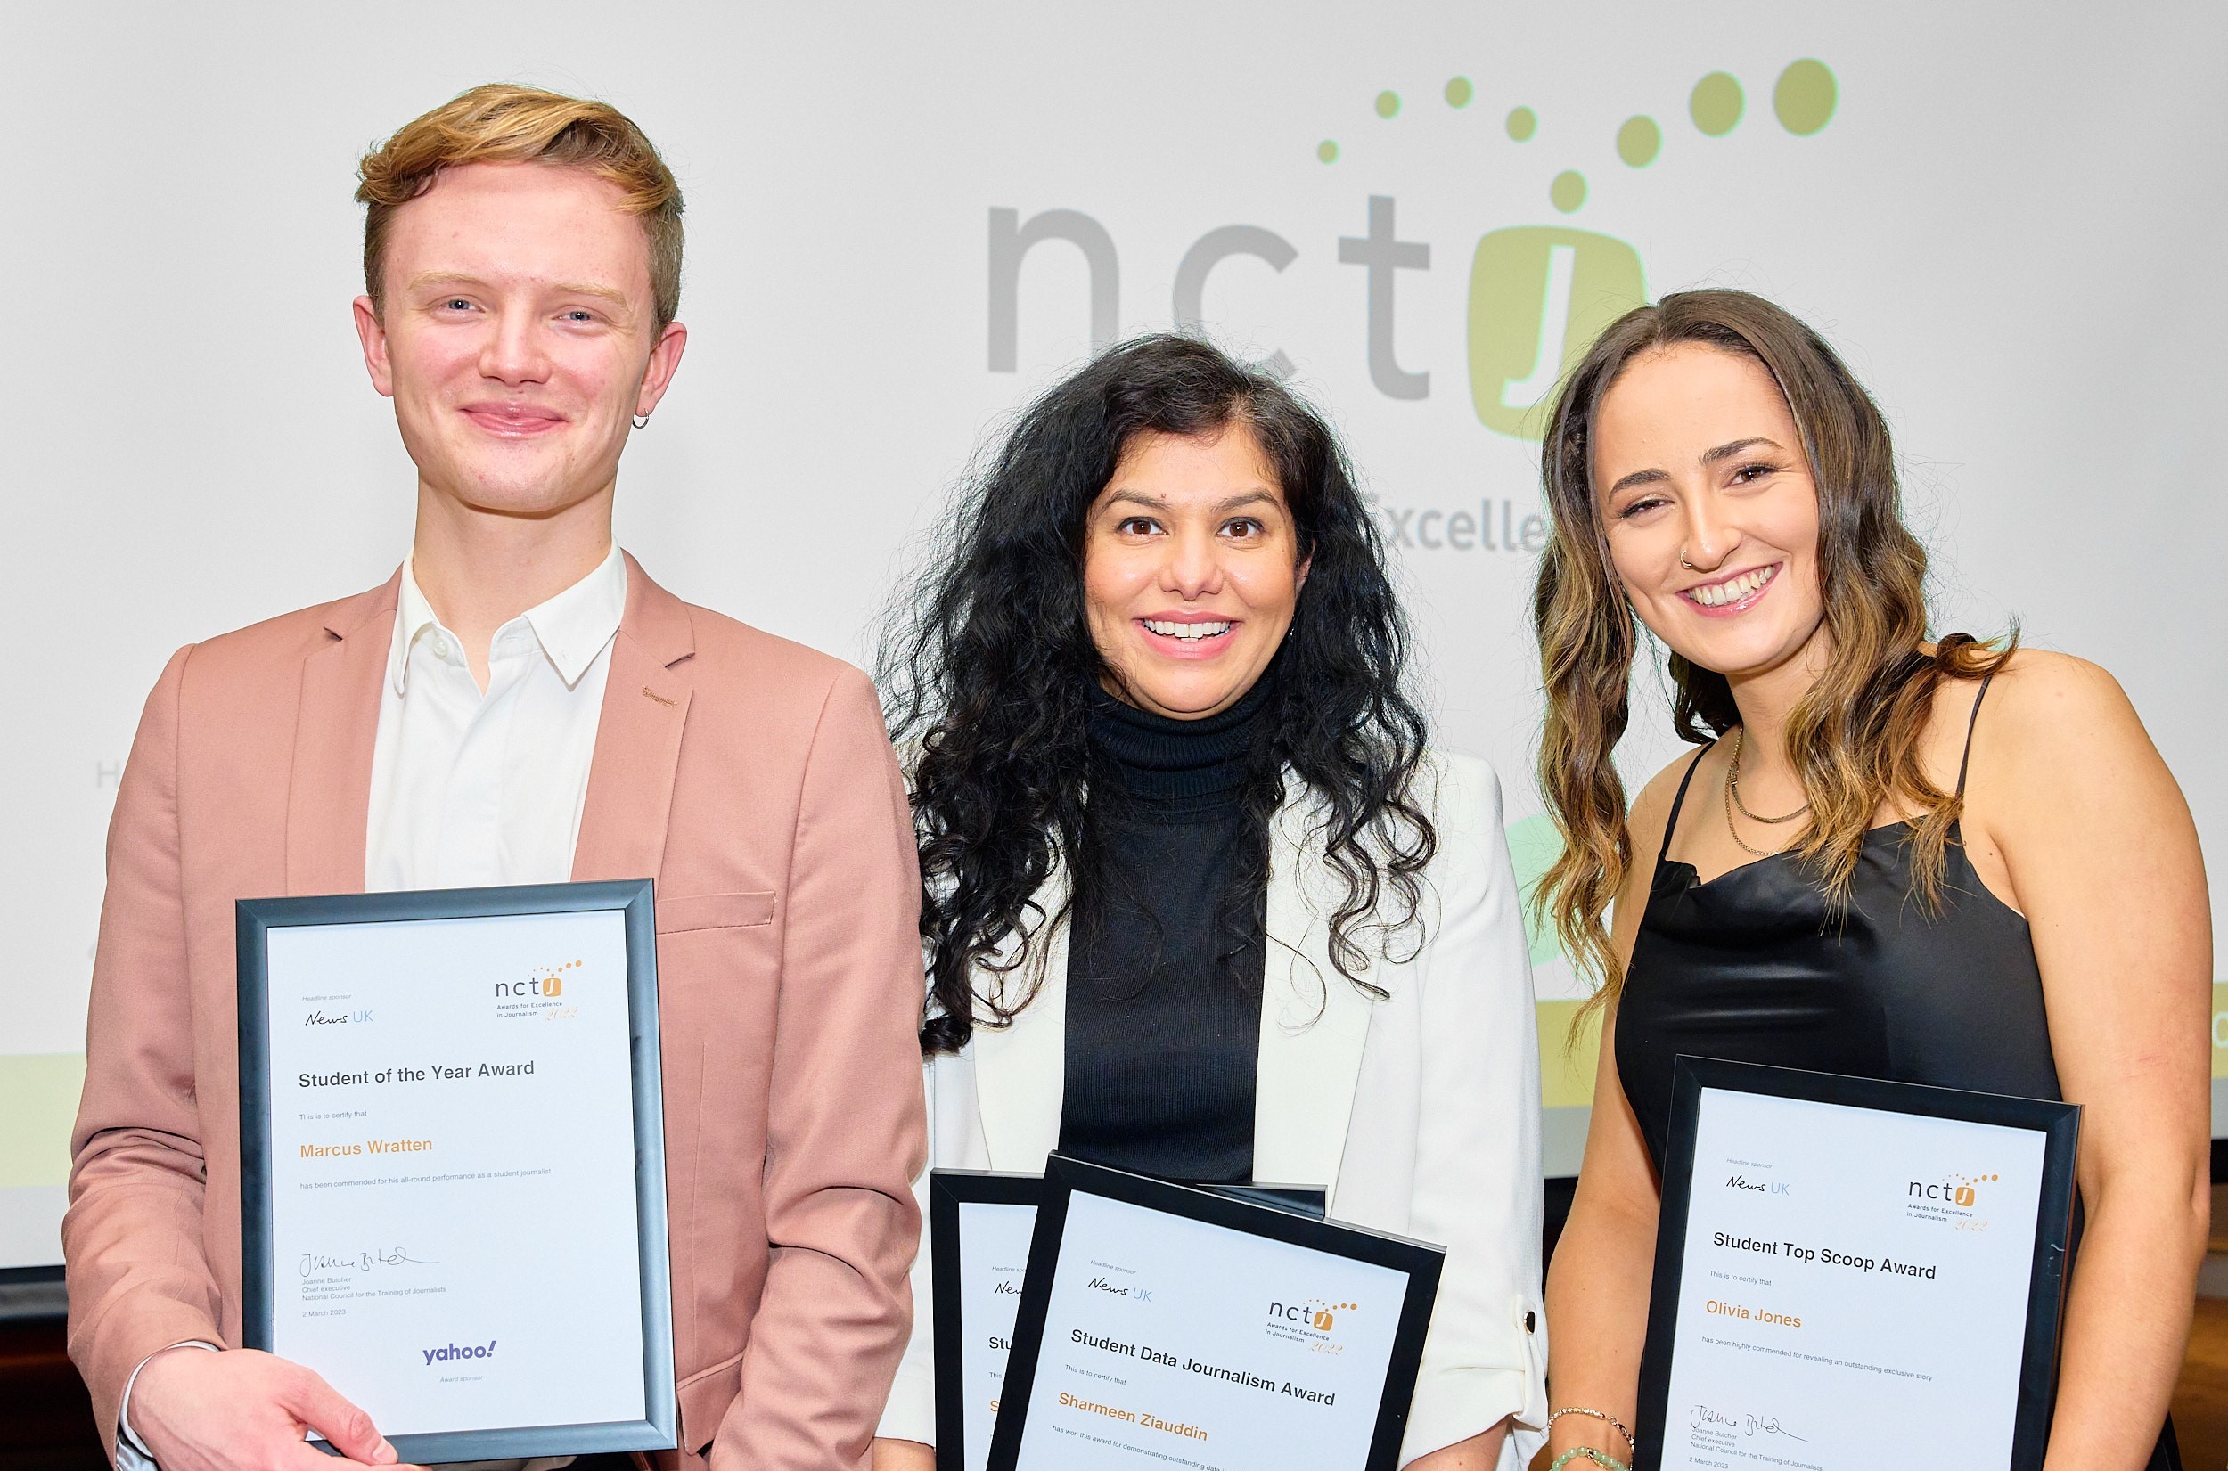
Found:
[{"label": "white projection screen with nctj logo behind the three people", "polygon": [[[682,178],[693,337],[619,535],[695,602],[864,662],[1016,406],[1094,343],[1199,325],[1335,415],[1439,740],[1499,769],[1537,874],[1526,410],[1618,301],[1738,285],[1885,406],[1936,626],[2016,617],[2105,664],[2228,845],[2217,4],[11,4],[0,58],[4,1268],[58,1259],[147,689],[408,548],[348,314],[354,160],[481,80],[608,98]],[[1640,684],[1629,778],[1680,749]],[[1593,1052],[1564,1052],[1562,956],[1533,958],[1569,1175]]]}]

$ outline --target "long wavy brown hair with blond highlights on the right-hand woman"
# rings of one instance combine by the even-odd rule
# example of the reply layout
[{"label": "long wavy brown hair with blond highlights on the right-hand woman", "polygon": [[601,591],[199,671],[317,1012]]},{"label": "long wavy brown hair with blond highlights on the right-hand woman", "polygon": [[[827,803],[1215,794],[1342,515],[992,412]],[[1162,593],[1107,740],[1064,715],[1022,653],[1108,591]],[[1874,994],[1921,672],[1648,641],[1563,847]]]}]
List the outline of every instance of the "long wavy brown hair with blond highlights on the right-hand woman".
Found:
[{"label": "long wavy brown hair with blond highlights on the right-hand woman", "polygon": [[[1533,629],[1546,684],[1540,787],[1562,829],[1562,856],[1533,903],[1553,920],[1597,996],[1624,983],[1604,914],[1633,863],[1624,782],[1611,762],[1631,718],[1633,660],[1642,624],[1609,559],[1602,501],[1593,486],[1593,419],[1633,359],[1702,343],[1749,357],[1780,386],[1818,486],[1818,566],[1831,657],[1787,720],[1787,756],[1802,780],[1811,820],[1794,847],[1831,903],[1845,905],[1865,831],[1883,805],[1916,809],[1909,845],[1914,885],[1938,903],[1943,851],[1963,811],[1918,762],[1934,693],[1943,680],[1994,673],[2016,646],[1963,633],[1927,640],[1927,553],[1903,524],[1894,444],[1872,394],[1834,348],[1782,308],[1749,292],[1678,292],[1620,316],[1564,381],[1540,455],[1553,539],[1533,588]],[[1671,722],[1709,744],[1740,724],[1722,673],[1669,660]]]}]

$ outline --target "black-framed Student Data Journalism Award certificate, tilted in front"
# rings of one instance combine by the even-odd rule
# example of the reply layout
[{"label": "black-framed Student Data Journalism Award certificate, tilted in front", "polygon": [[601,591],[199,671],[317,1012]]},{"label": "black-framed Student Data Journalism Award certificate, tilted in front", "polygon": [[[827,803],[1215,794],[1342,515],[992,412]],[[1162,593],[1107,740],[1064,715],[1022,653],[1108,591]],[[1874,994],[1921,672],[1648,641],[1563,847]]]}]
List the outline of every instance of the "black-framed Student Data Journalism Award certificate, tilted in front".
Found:
[{"label": "black-framed Student Data Journalism Award certificate, tilted in front", "polygon": [[1045,1161],[991,1471],[1393,1471],[1435,1246]]}]

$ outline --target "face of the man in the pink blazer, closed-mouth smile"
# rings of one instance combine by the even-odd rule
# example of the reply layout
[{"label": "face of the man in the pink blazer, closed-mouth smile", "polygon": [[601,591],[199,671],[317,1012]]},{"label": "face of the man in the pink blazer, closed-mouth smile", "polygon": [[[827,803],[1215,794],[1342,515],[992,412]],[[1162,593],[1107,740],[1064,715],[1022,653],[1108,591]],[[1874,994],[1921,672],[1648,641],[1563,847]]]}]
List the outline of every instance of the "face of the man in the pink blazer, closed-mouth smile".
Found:
[{"label": "face of the man in the pink blazer, closed-mouth smile", "polygon": [[541,163],[443,169],[394,212],[363,361],[423,490],[548,517],[608,495],[686,330],[657,328],[651,254],[617,185]]}]

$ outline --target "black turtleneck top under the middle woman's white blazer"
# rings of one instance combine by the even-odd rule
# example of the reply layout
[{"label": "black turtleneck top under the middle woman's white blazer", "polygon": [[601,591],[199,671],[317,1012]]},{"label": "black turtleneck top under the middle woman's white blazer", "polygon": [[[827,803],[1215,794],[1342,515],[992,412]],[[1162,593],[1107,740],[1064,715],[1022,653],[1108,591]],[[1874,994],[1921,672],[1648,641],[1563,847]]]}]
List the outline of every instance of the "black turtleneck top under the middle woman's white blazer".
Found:
[{"label": "black turtleneck top under the middle woman's white blazer", "polygon": [[[1241,845],[1272,684],[1205,720],[1092,691],[1083,860],[1098,878],[1067,947],[1067,1155],[1163,1179],[1252,1179],[1268,865],[1248,865]],[[1250,892],[1234,892],[1248,869]]]}]

